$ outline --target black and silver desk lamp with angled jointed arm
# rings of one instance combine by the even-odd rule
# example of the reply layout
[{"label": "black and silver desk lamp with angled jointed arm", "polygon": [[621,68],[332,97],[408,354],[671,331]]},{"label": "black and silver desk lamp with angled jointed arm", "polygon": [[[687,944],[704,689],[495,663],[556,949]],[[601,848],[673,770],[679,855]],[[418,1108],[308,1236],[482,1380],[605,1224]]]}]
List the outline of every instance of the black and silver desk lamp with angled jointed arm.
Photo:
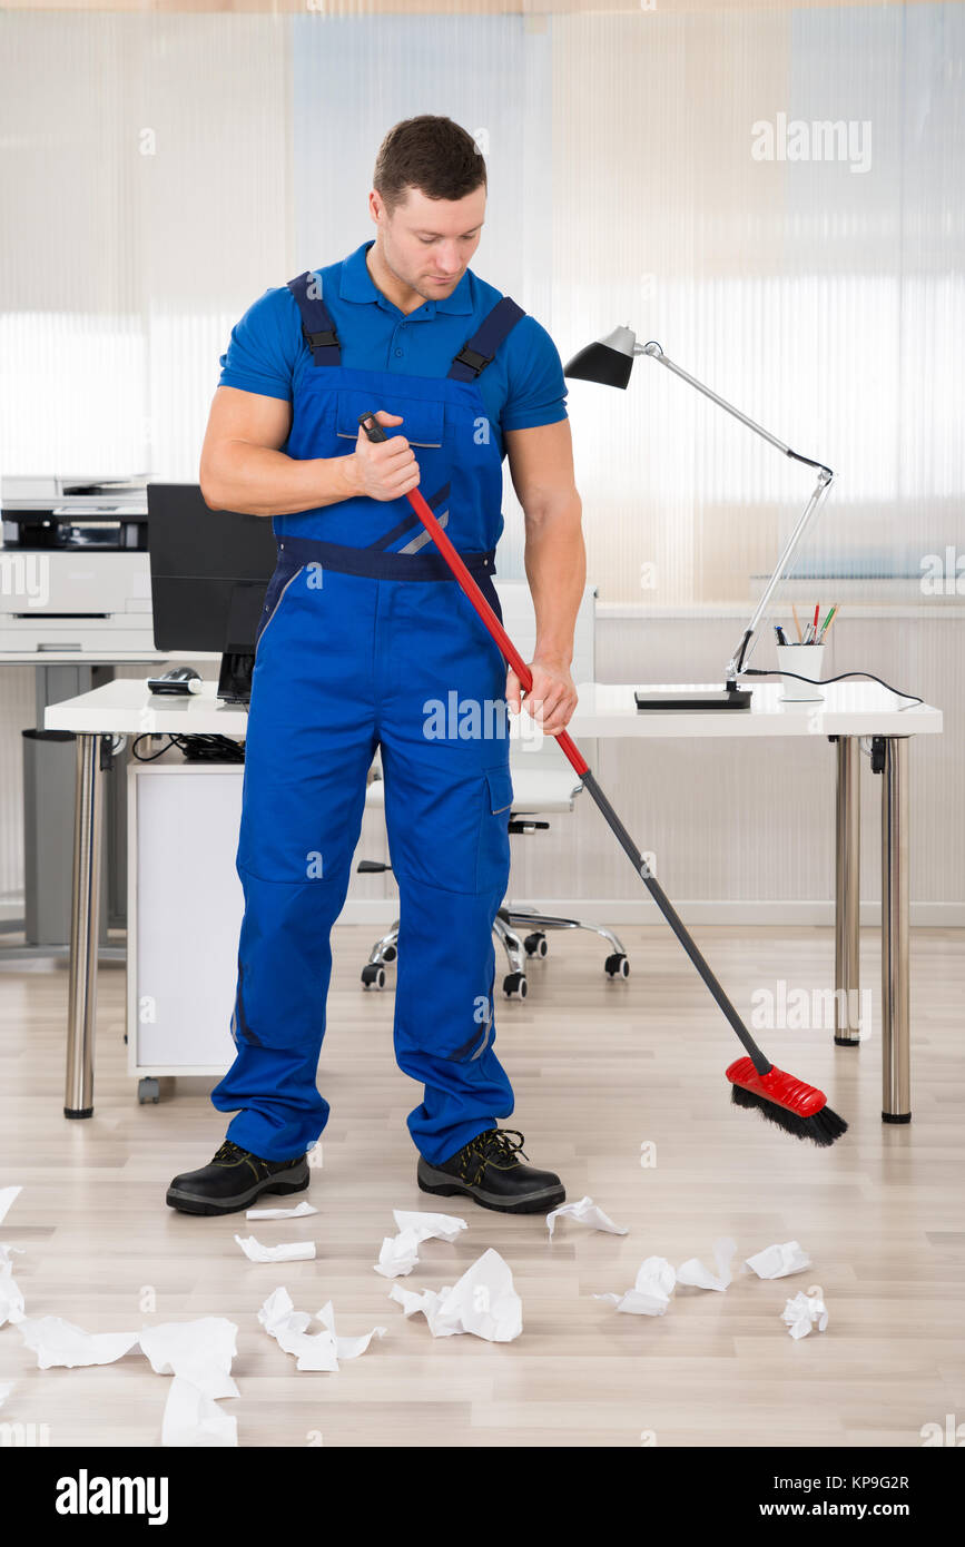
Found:
[{"label": "black and silver desk lamp with angled jointed arm", "polygon": [[817,511],[827,497],[827,490],[830,489],[834,473],[830,467],[824,467],[823,463],[815,463],[812,461],[810,456],[801,456],[800,452],[792,452],[792,449],[789,446],[784,446],[783,441],[778,441],[776,435],[772,435],[770,430],[764,430],[759,424],[755,424],[753,419],[748,419],[745,413],[741,413],[739,408],[735,408],[733,404],[725,402],[724,398],[718,398],[716,391],[711,391],[710,387],[705,387],[694,376],[690,376],[685,370],[682,370],[671,359],[668,359],[667,354],[663,354],[663,350],[660,348],[659,343],[654,343],[653,340],[650,343],[637,343],[637,336],[631,328],[614,328],[612,333],[608,333],[605,334],[605,337],[597,339],[595,343],[588,343],[585,350],[580,350],[578,354],[574,354],[572,360],[569,360],[569,364],[564,367],[563,374],[577,377],[580,381],[600,382],[603,387],[626,388],[626,384],[629,382],[629,373],[633,370],[633,362],[637,354],[646,354],[651,360],[659,360],[659,364],[665,365],[668,371],[673,371],[674,376],[680,376],[682,381],[690,382],[690,385],[694,387],[699,393],[704,393],[704,396],[710,398],[711,402],[716,402],[719,408],[724,408],[727,413],[733,415],[735,419],[739,419],[741,424],[745,424],[748,430],[753,430],[755,435],[761,436],[761,439],[776,447],[776,450],[783,452],[784,456],[790,456],[795,463],[804,463],[806,467],[813,467],[818,475],[810,498],[804,506],[804,512],[801,514],[793,532],[787,538],[784,551],[778,558],[775,572],[764,586],[761,600],[758,602],[752,614],[752,619],[747,628],[744,630],[744,634],[741,636],[741,640],[727,664],[725,687],[722,690],[710,690],[710,692],[707,688],[687,687],[673,693],[637,692],[636,695],[637,709],[642,710],[748,709],[750,690],[738,687],[738,676],[745,668],[750,659],[750,651],[753,648],[752,639],[759,630],[761,619],[767,616],[769,602],[775,594],[778,585],[784,579],[787,566],[793,558],[793,555],[796,554],[798,548],[801,546],[804,534],[807,532],[807,528],[810,526]]}]

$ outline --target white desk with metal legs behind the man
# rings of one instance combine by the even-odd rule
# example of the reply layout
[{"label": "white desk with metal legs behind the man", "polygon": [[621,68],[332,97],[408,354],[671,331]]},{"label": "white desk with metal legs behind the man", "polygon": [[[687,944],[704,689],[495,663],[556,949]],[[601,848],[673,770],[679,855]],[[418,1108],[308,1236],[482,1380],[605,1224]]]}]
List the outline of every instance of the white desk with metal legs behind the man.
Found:
[{"label": "white desk with metal legs behind the man", "polygon": [[[637,710],[633,684],[591,682],[580,685],[580,702],[568,729],[577,744],[595,736],[827,736],[835,743],[835,1043],[841,1047],[860,1043],[860,738],[877,738],[875,763],[881,774],[881,1117],[889,1123],[908,1123],[908,741],[916,735],[940,735],[942,712],[929,704],[902,709],[900,699],[874,682],[830,684],[823,702],[784,704],[781,695],[779,684],[762,684],[755,687],[748,710],[654,713]],[[48,730],[73,730],[77,736],[65,1117],[93,1114],[99,775],[110,763],[111,738],[176,733],[241,739],[246,726],[247,712],[218,704],[213,682],[206,682],[204,692],[193,698],[152,698],[141,682],[114,681],[46,710]]]}]

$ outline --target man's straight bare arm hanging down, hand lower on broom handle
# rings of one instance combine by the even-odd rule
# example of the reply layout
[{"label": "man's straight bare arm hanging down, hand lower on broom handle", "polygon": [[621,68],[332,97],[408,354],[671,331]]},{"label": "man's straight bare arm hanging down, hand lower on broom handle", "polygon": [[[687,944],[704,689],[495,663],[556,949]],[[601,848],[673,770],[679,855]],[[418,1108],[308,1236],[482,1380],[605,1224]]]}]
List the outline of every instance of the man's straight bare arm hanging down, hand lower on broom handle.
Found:
[{"label": "man's straight bare arm hanging down, hand lower on broom handle", "polygon": [[[569,665],[586,586],[583,506],[574,480],[569,421],[507,430],[506,450],[526,517],[526,577],[537,613],[532,698],[543,701],[543,732],[555,735],[566,729],[577,705]],[[507,678],[507,698],[518,707],[513,671]]]}]

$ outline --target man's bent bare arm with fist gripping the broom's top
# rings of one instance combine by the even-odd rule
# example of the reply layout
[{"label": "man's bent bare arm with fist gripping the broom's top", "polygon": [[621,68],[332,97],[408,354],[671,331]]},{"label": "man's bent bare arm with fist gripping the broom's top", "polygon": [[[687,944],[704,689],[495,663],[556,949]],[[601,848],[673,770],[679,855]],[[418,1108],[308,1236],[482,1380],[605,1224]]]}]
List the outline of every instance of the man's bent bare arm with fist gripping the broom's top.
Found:
[{"label": "man's bent bare arm with fist gripping the broom's top", "polygon": [[[377,415],[385,425],[397,415]],[[402,435],[373,444],[359,429],[346,456],[300,461],[280,450],[291,429],[291,404],[281,398],[218,387],[201,447],[199,483],[212,511],[292,515],[370,495],[396,500],[419,483],[414,452]]]}]

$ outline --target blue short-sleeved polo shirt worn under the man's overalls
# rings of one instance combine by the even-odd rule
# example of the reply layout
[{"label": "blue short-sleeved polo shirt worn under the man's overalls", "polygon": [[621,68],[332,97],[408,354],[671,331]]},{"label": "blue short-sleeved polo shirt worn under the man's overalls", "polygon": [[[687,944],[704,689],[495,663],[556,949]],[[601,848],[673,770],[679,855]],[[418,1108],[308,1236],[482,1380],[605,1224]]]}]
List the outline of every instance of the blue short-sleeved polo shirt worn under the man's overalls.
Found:
[{"label": "blue short-sleeved polo shirt worn under the man's overalls", "polygon": [[[342,365],[402,376],[447,376],[453,356],[503,292],[467,269],[452,295],[427,300],[405,316],[373,283],[365,263],[371,246],[363,241],[339,265],[337,285],[325,286]],[[292,402],[306,370],[314,370],[311,350],[302,336],[295,297],[285,285],[264,291],[232,328],[218,385]],[[520,319],[476,385],[501,456],[504,430],[566,419],[563,364],[535,317]]]}]

